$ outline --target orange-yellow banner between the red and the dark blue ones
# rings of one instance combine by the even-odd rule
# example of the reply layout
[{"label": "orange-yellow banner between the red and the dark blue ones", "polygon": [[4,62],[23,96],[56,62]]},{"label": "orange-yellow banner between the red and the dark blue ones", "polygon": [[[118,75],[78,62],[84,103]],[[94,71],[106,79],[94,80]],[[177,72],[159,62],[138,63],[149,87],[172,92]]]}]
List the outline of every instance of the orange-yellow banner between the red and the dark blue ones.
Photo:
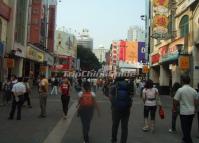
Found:
[{"label": "orange-yellow banner between the red and the dark blue ones", "polygon": [[128,41],[126,47],[126,62],[138,62],[138,42]]}]

